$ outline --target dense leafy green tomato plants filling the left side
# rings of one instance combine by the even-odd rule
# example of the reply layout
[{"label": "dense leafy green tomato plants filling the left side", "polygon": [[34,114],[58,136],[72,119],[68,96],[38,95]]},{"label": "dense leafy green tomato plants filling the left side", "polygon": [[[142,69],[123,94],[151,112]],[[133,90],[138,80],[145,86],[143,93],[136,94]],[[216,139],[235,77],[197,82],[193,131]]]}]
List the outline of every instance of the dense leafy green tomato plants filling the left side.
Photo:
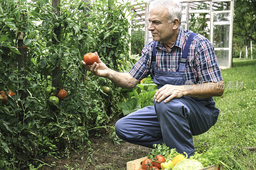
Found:
[{"label": "dense leafy green tomato plants filling the left side", "polygon": [[[9,95],[15,100],[0,107],[0,116],[3,118],[0,126],[4,127],[0,135],[0,145],[4,146],[0,150],[0,160],[4,152],[8,153],[8,157],[13,158],[10,161],[13,169],[24,164],[27,166],[32,160],[30,158],[45,153],[59,156],[64,146],[76,149],[82,145],[82,141],[88,141],[87,137],[91,133],[86,129],[104,126],[110,118],[115,117],[114,114],[119,114],[117,103],[123,98],[119,90],[109,84],[110,89],[113,89],[111,94],[102,94],[100,85],[108,84],[108,80],[85,72],[81,60],[88,51],[100,51],[100,56],[113,68],[114,64],[117,66],[114,62],[123,59],[119,54],[128,54],[129,47],[129,22],[123,10],[130,4],[120,4],[118,7],[116,0],[111,0],[113,8],[109,9],[110,1],[96,1],[86,11],[85,1],[61,1],[60,15],[56,16],[52,11],[54,0],[19,2],[20,5],[17,5],[14,1],[0,0],[0,90],[5,91],[1,92],[1,101],[7,102],[9,97],[6,98],[5,89],[19,92],[16,96],[10,92]],[[114,17],[103,17],[99,11]],[[85,18],[85,15],[88,17]],[[111,24],[107,27],[108,22]],[[60,30],[55,32],[57,27]],[[25,35],[24,40],[18,40],[18,34]],[[18,44],[18,41],[23,44]],[[53,41],[58,43],[54,44]],[[19,62],[20,49],[27,49],[24,67],[19,67],[23,63]],[[55,85],[50,82],[47,85],[46,78],[52,81],[58,79],[60,83]],[[44,95],[47,86],[69,87],[66,98],[70,101],[55,105],[56,110],[48,107],[48,102],[55,104],[58,99],[48,96],[55,95],[52,90],[46,90],[48,95]],[[54,100],[48,100],[53,97]],[[26,132],[24,127],[27,127]],[[52,149],[49,150],[49,147]],[[28,157],[17,163],[14,161],[17,152],[27,153]]]}]

